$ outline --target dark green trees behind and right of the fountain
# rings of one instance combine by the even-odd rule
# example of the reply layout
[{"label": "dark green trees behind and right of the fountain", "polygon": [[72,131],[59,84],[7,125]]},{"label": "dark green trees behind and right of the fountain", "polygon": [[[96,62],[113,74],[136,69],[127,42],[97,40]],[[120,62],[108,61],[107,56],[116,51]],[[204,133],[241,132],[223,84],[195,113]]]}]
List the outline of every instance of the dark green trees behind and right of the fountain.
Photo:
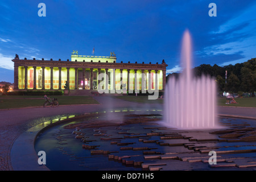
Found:
[{"label": "dark green trees behind and right of the fountain", "polygon": [[[227,71],[227,80],[225,72]],[[256,91],[256,58],[250,59],[244,63],[235,65],[229,64],[220,67],[216,64],[201,64],[199,67],[193,68],[196,77],[208,75],[216,79],[219,92],[247,92],[254,96]],[[168,78],[179,77],[179,73],[172,73]]]}]

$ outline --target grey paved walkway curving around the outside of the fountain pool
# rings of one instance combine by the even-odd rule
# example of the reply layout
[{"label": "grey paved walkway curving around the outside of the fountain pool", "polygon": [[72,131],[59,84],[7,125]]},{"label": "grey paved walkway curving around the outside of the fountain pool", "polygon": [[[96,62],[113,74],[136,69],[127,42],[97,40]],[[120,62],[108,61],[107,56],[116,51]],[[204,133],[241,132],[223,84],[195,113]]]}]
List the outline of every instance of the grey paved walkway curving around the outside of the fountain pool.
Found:
[{"label": "grey paved walkway curving around the outside of the fountain pool", "polygon": [[[54,108],[30,107],[22,109],[0,110],[0,170],[13,170],[10,160],[11,147],[16,138],[24,131],[49,119],[63,114],[83,114],[94,111],[122,109],[163,109],[161,104],[137,104],[106,96],[94,96],[100,104],[68,105]],[[218,107],[218,113],[256,117],[256,108]]]}]

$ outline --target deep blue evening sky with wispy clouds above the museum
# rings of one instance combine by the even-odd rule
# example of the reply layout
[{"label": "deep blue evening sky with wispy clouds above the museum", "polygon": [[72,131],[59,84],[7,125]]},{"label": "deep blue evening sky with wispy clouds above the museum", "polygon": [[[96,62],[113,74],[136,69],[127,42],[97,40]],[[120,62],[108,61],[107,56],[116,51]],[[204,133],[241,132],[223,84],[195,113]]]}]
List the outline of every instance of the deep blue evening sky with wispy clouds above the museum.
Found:
[{"label": "deep blue evening sky with wispy clouds above the museum", "polygon": [[[46,4],[46,17],[38,4]],[[217,16],[210,17],[209,3]],[[108,56],[124,63],[156,63],[167,73],[180,71],[183,32],[191,32],[193,66],[228,65],[256,57],[256,2],[253,0],[130,0],[0,2],[0,81],[13,82],[13,62],[20,59],[71,59]]]}]

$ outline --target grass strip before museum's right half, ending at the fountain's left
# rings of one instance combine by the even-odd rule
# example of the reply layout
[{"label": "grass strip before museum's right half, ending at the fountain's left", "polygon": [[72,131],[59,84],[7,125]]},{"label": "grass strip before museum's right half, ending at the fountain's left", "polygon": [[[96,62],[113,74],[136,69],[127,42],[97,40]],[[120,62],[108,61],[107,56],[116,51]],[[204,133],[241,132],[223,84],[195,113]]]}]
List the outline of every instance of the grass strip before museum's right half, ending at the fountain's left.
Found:
[{"label": "grass strip before museum's right half, ending at the fountain's left", "polygon": [[115,96],[115,98],[144,104],[163,104],[163,99],[148,100],[148,96]]}]

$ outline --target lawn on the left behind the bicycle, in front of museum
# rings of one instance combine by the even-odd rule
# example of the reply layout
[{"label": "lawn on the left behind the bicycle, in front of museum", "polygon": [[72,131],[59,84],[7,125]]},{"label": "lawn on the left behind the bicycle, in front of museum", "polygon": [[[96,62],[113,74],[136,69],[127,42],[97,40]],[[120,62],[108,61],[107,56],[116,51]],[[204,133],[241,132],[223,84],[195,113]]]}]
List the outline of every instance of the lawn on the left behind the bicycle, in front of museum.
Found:
[{"label": "lawn on the left behind the bicycle, in front of museum", "polygon": [[[50,96],[60,105],[99,104],[90,96]],[[43,106],[43,96],[0,96],[0,109]]]}]

